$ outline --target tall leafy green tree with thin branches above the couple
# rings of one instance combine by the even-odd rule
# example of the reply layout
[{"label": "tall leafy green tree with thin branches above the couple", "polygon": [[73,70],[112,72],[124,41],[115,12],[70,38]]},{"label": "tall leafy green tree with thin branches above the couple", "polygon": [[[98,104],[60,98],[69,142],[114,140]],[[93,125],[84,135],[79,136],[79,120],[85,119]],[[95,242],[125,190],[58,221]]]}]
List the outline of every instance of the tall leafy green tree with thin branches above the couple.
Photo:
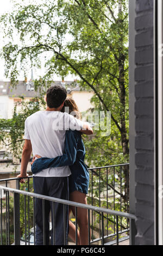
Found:
[{"label": "tall leafy green tree with thin branches above the couple", "polygon": [[[113,163],[117,155],[128,161],[128,1],[22,1],[1,17],[1,23],[9,38],[3,57],[12,85],[26,63],[40,66],[42,54],[46,74],[41,83],[35,81],[36,88],[53,80],[54,74],[77,75],[80,86],[95,93],[95,108],[111,111],[111,135],[95,133],[87,144],[88,153],[96,152],[89,163],[101,164],[103,156],[103,165]],[[19,44],[13,43],[15,31]]]}]

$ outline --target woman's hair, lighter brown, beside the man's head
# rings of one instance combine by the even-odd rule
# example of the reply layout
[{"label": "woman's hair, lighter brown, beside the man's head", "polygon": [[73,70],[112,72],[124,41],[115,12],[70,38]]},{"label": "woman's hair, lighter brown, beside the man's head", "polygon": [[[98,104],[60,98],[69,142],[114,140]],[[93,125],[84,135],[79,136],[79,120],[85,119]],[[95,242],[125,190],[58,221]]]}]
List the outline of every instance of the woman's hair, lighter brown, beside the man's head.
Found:
[{"label": "woman's hair, lighter brown, beside the man's head", "polygon": [[[76,117],[76,118],[78,118],[78,119],[80,119],[80,112],[79,112],[79,109],[78,109],[78,107],[77,107],[77,104],[76,104],[76,102],[73,100],[73,99],[71,99],[71,98],[69,98],[69,97],[67,97],[66,98],[66,100],[65,100],[65,102],[64,102],[64,106],[62,107],[62,110],[61,110],[61,112],[65,112],[67,109],[65,109],[65,107],[68,107],[69,109],[68,109],[68,111],[69,111],[69,113],[68,114],[71,114],[72,112],[72,114],[73,114],[73,116],[74,117]],[[67,112],[67,111],[66,111]]]}]

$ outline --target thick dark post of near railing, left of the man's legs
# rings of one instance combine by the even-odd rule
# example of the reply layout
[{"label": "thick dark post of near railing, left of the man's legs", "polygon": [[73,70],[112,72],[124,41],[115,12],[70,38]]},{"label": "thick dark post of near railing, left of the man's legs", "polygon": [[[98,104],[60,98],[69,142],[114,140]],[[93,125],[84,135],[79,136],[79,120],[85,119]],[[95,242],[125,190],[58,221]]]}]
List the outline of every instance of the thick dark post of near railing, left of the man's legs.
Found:
[{"label": "thick dark post of near railing, left of the man's legs", "polygon": [[14,193],[14,242],[20,245],[20,194]]}]

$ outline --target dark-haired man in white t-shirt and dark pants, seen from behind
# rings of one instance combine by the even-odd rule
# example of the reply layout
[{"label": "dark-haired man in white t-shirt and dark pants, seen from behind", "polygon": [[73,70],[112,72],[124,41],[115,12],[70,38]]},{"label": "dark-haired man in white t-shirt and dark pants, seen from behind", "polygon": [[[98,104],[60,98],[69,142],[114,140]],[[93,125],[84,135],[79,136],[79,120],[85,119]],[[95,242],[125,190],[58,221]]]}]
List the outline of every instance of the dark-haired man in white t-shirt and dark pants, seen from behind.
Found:
[{"label": "dark-haired man in white t-shirt and dark pants, seen from behind", "polygon": [[[38,111],[30,115],[25,121],[24,147],[21,161],[21,174],[18,178],[27,176],[27,164],[30,155],[55,157],[64,153],[65,133],[62,128],[74,127],[85,134],[93,131],[87,123],[74,118],[72,115],[60,112],[67,96],[66,89],[61,86],[52,86],[47,90],[46,111]],[[68,166],[47,168],[33,175],[34,192],[45,196],[68,200],[68,176],[71,175]],[[24,182],[23,179],[20,180]],[[49,243],[49,212],[52,211],[52,202],[45,201],[45,232],[46,245]],[[66,218],[66,243],[68,236],[68,206],[55,203],[55,244],[64,245],[64,217]],[[36,245],[43,245],[43,217],[42,200],[35,199]]]}]

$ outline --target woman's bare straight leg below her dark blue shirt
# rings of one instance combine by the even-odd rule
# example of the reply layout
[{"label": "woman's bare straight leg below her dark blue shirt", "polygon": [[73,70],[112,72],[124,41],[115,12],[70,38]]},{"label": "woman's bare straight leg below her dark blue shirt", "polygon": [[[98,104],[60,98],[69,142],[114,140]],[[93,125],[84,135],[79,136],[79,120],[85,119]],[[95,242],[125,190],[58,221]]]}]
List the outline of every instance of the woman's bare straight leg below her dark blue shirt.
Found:
[{"label": "woman's bare straight leg below her dark blue shirt", "polygon": [[[70,193],[70,201],[76,203],[87,204],[86,194],[80,191]],[[71,206],[73,215],[75,216],[75,208]],[[80,245],[88,245],[88,216],[87,209],[77,208],[77,221],[79,225]],[[75,227],[75,226],[74,226]],[[76,229],[73,229],[75,233]]]}]

